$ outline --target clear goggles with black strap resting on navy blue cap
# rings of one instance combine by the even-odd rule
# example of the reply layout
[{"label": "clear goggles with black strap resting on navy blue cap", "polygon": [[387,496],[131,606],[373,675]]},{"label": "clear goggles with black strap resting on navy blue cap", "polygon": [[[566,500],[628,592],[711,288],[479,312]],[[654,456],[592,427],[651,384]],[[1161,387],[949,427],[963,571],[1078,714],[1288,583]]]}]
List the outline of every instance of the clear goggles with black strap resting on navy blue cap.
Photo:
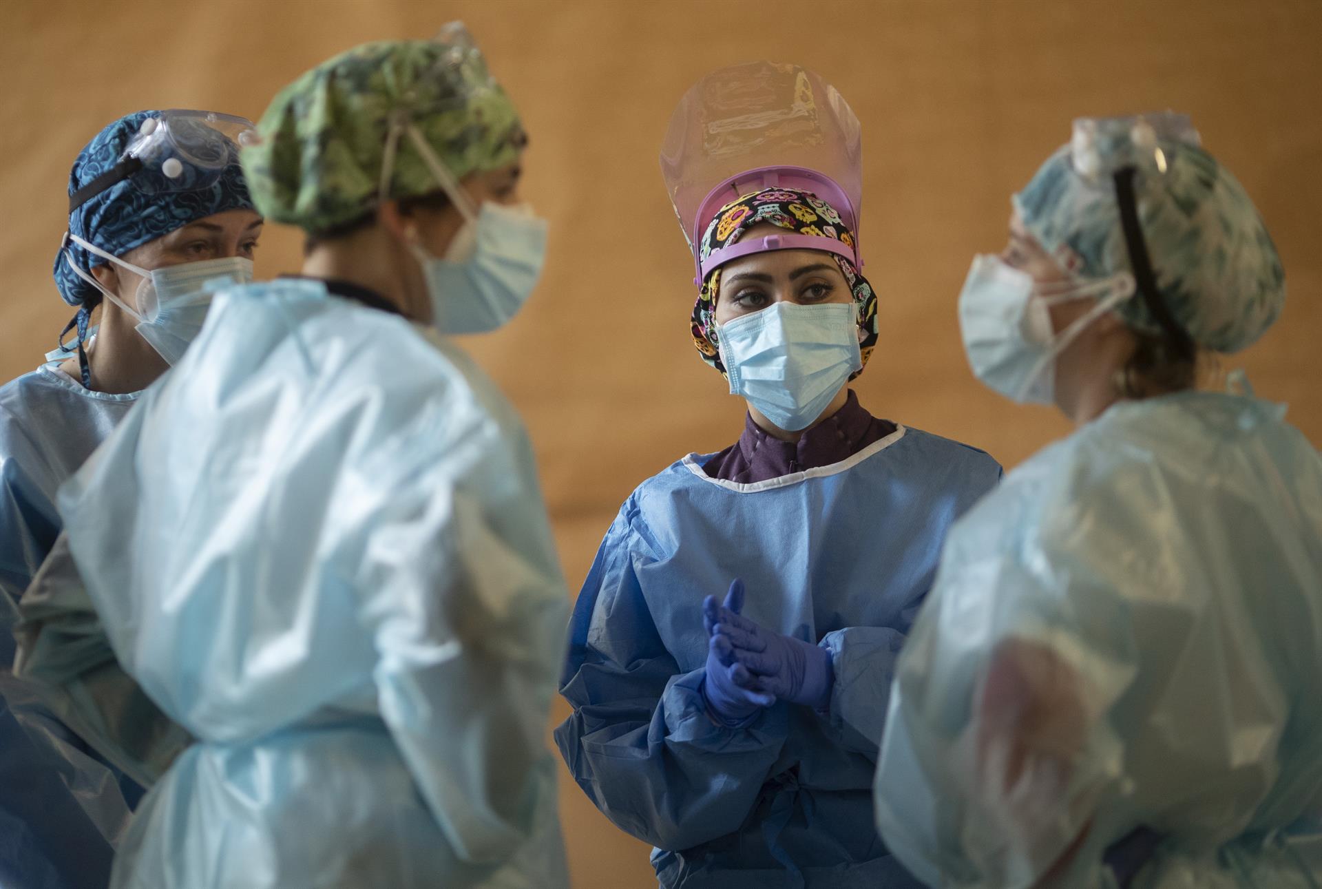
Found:
[{"label": "clear goggles with black strap resting on navy blue cap", "polygon": [[258,143],[247,118],[217,111],[173,108],[147,118],[114,167],[69,196],[69,212],[118,183],[144,194],[210,188],[239,160],[239,148]]}]

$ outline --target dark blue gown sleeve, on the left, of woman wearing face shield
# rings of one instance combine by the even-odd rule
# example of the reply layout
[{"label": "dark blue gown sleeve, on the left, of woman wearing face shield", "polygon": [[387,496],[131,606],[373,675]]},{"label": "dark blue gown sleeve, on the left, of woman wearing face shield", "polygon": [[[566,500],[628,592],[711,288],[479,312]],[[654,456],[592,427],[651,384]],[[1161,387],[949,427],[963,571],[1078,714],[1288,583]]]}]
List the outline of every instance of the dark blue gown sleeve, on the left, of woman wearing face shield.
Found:
[{"label": "dark blue gown sleeve, on the left, of woman wearing face shield", "polygon": [[744,823],[785,742],[788,705],[739,729],[707,716],[703,669],[681,672],[642,595],[636,568],[654,553],[632,528],[631,503],[602,541],[574,609],[561,685],[574,713],[555,741],[607,818],[678,851]]}]

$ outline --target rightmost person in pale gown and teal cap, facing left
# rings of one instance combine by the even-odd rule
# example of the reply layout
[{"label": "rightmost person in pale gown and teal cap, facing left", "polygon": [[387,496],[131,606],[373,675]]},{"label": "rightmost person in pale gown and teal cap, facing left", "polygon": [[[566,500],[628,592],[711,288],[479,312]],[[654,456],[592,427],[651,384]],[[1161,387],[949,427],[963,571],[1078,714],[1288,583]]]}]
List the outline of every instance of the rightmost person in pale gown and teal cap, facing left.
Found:
[{"label": "rightmost person in pale gown and teal cap, facing left", "polygon": [[1322,884],[1322,460],[1195,389],[1284,299],[1174,114],[1077,120],[974,259],[974,373],[1076,430],[951,530],[900,656],[876,814],[928,884]]}]

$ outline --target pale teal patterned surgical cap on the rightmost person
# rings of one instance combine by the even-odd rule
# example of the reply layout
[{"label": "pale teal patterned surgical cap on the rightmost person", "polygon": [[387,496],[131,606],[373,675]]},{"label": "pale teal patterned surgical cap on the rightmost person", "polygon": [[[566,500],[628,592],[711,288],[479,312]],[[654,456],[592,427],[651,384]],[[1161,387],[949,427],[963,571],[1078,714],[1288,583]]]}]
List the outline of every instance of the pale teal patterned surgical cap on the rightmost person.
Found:
[{"label": "pale teal patterned surgical cap on the rightmost person", "polygon": [[[1066,271],[1128,271],[1112,175],[1129,165],[1159,298],[1199,345],[1251,345],[1281,314],[1285,271],[1253,202],[1199,147],[1187,116],[1076,120],[1071,144],[1042,165],[1014,206]],[[1136,329],[1161,332],[1142,299],[1116,311]]]}]

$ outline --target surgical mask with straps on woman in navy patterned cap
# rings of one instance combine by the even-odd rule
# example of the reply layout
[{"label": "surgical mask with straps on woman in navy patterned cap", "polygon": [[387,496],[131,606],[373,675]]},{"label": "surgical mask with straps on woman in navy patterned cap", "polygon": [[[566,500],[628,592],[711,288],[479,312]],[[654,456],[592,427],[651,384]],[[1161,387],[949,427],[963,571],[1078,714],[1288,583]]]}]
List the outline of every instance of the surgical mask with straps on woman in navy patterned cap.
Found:
[{"label": "surgical mask with straps on woman in navy patterned cap", "polygon": [[79,269],[71,257],[65,261],[74,274],[99,290],[106,299],[119,306],[137,324],[137,333],[169,364],[184,357],[184,351],[197,337],[212,306],[212,294],[226,284],[246,284],[253,280],[253,261],[245,257],[222,257],[201,262],[181,262],[161,269],[143,269],[87,243],[77,234],[69,239],[82,249],[108,262],[127,269],[143,280],[137,284],[131,308],[99,280]]}]

